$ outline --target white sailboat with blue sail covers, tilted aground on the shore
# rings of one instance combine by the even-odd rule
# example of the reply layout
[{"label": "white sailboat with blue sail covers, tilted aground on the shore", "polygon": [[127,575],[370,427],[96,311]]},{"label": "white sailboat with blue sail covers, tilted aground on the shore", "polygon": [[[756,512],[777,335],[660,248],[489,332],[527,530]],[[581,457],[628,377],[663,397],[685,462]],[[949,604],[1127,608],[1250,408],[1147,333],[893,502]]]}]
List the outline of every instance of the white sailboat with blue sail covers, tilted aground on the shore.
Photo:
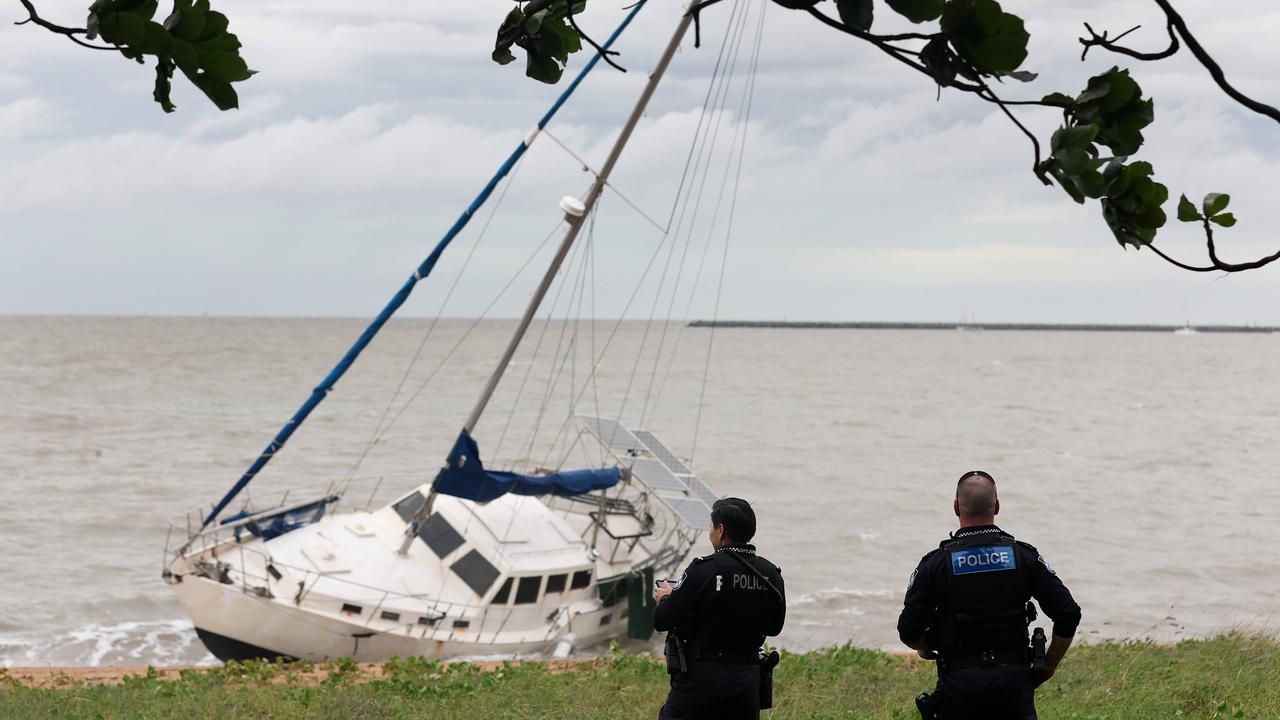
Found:
[{"label": "white sailboat with blue sail covers, tilted aground on the shore", "polygon": [[[644,4],[631,9],[603,50]],[[681,17],[588,192],[561,202],[567,231],[554,260],[431,482],[362,510],[347,510],[340,492],[237,503],[431,272],[599,53],[230,492],[170,527],[164,579],[215,656],[563,655],[607,638],[649,635],[652,582],[677,570],[716,500],[686,459],[653,433],[579,414],[575,442],[598,443],[604,466],[493,471],[472,432],[690,23]]]}]

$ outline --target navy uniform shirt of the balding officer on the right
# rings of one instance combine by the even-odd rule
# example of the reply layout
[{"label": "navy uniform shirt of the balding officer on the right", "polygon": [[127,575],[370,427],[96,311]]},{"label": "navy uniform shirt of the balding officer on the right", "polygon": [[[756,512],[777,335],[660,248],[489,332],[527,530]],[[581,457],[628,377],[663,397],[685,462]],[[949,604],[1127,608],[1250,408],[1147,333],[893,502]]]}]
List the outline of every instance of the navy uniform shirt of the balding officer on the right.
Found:
[{"label": "navy uniform shirt of the balding officer on the right", "polygon": [[906,644],[928,634],[929,650],[943,657],[1027,647],[1030,598],[1055,635],[1075,634],[1080,606],[1039,551],[996,525],[963,528],[911,573],[897,634]]}]

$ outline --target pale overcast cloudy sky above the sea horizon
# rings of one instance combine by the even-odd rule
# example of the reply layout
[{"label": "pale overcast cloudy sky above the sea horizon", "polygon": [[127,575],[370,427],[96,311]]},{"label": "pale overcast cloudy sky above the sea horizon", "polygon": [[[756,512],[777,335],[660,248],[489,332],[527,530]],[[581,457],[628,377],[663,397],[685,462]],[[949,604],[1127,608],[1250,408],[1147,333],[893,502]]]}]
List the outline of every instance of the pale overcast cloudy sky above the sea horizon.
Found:
[{"label": "pale overcast cloudy sky above the sea horizon", "polygon": [[[602,314],[622,311],[657,241],[621,197],[659,220],[671,213],[733,1],[746,0],[704,13],[701,49],[684,44],[602,202]],[[584,27],[605,37],[623,4],[593,0]],[[215,9],[259,74],[229,113],[177,81],[178,111],[165,115],[150,68],[15,27],[8,20],[23,12],[10,5],[0,13],[0,314],[371,315],[562,90],[489,59],[506,0],[221,0]],[[83,22],[83,3],[38,6],[54,22]],[[1240,223],[1220,233],[1225,258],[1275,251],[1280,136],[1270,120],[1226,99],[1185,51],[1156,64],[1105,53],[1080,61],[1083,22],[1143,24],[1132,45],[1162,47],[1153,3],[1006,6],[1028,20],[1025,69],[1041,73],[1004,87],[1007,96],[1074,95],[1114,64],[1132,68],[1156,97],[1140,158],[1175,200],[1231,193]],[[1178,6],[1239,88],[1280,100],[1280,6]],[[909,29],[882,3],[878,13],[877,31]],[[605,156],[678,15],[675,0],[650,0],[617,45],[630,72],[602,65],[553,123],[588,163]],[[771,5],[764,28],[751,114],[722,118],[726,137],[746,133],[746,150],[719,306],[716,250],[695,316],[1280,325],[1280,266],[1194,274],[1126,251],[1097,204],[1078,206],[1034,178],[1030,146],[992,106],[940,96],[803,13]],[[572,56],[568,72],[586,58]],[[1059,119],[1020,117],[1042,138]],[[490,231],[460,237],[404,311],[485,311],[554,228],[559,197],[581,195],[588,179],[538,140]],[[1194,225],[1174,222],[1158,242],[1204,259]],[[472,249],[467,282],[445,304]],[[517,278],[489,313],[518,314],[534,282]],[[618,297],[603,299],[611,290]]]}]

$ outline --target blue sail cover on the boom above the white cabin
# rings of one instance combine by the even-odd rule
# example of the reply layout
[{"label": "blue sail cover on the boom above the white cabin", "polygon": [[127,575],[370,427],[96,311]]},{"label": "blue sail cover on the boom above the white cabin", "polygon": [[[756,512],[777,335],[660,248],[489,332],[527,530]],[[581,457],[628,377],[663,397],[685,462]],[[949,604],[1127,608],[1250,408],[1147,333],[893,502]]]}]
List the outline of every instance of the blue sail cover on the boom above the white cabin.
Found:
[{"label": "blue sail cover on the boom above the white cabin", "polygon": [[458,441],[453,443],[448,462],[435,477],[431,488],[443,495],[475,500],[476,502],[489,502],[508,492],[526,496],[572,497],[611,488],[622,479],[622,473],[617,468],[564,470],[550,475],[521,475],[520,473],[485,470],[484,464],[480,462],[480,446],[466,430],[462,430]]}]

